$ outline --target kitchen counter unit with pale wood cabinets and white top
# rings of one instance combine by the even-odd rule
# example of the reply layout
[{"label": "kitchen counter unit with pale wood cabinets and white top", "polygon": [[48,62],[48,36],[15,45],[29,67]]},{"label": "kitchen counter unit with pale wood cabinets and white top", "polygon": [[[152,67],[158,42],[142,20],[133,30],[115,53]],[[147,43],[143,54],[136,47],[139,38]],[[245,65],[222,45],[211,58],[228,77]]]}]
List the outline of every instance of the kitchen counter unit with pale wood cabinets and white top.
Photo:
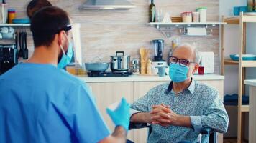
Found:
[{"label": "kitchen counter unit with pale wood cabinets and white top", "polygon": [[[106,107],[113,104],[121,97],[127,99],[127,102],[132,103],[157,85],[170,82],[169,76],[140,76],[132,75],[130,77],[78,77],[88,83],[93,95],[96,99],[97,107],[103,114],[103,118],[111,130],[115,125],[106,114]],[[214,87],[219,92],[219,97],[223,99],[224,95],[224,76],[216,74],[194,75],[194,79],[199,80],[204,84]],[[132,135],[136,137],[132,137]],[[140,135],[137,136],[137,134]],[[134,142],[147,142],[147,129],[136,129],[130,131],[128,139]],[[223,135],[218,134],[218,142],[222,142]]]}]

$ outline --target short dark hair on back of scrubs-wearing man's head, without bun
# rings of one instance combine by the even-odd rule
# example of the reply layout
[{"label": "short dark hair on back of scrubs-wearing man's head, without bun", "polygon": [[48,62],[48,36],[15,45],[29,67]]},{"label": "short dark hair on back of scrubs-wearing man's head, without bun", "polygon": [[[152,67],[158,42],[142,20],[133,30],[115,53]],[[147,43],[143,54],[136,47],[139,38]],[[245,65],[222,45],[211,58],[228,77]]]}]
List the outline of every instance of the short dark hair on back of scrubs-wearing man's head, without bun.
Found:
[{"label": "short dark hair on back of scrubs-wearing man's head, without bun", "polygon": [[70,19],[67,12],[56,6],[47,6],[37,11],[32,17],[30,26],[35,47],[50,46],[55,34],[64,30],[69,24]]}]

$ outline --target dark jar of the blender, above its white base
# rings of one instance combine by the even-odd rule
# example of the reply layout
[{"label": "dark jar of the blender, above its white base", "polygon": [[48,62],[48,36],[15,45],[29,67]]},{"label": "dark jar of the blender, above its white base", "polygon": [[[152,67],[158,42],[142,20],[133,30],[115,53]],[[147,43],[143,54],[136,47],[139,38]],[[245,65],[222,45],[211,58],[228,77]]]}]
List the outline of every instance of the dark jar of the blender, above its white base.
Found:
[{"label": "dark jar of the blender, above its white base", "polygon": [[163,39],[156,39],[153,40],[153,48],[155,51],[154,61],[164,61],[163,60],[163,49],[164,49],[164,40]]}]

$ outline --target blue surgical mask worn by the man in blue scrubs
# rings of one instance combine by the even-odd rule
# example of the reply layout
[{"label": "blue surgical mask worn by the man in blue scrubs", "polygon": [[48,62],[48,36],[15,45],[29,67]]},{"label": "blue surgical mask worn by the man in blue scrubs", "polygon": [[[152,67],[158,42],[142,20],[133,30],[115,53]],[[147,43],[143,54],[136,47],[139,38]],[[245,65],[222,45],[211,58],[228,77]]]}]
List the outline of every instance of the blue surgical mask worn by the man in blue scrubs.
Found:
[{"label": "blue surgical mask worn by the man in blue scrubs", "polygon": [[65,66],[70,64],[70,61],[73,57],[73,44],[70,41],[68,42],[68,52],[67,52],[67,54],[65,54],[63,46],[60,45],[60,48],[63,51],[63,56],[61,57],[60,62],[58,63],[58,68],[63,69]]}]

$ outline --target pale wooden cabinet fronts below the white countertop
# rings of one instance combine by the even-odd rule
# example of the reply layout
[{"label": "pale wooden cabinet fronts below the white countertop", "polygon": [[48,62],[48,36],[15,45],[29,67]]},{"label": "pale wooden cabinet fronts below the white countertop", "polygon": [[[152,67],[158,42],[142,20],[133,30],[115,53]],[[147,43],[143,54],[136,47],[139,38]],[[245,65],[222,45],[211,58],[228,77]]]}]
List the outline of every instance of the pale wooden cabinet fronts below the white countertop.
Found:
[{"label": "pale wooden cabinet fronts below the white countertop", "polygon": [[[202,80],[206,84],[215,87],[223,99],[224,82],[223,80]],[[110,117],[106,114],[106,107],[114,102],[119,102],[121,97],[125,97],[128,102],[133,101],[144,96],[152,87],[159,84],[168,82],[93,82],[88,83],[91,86],[94,96],[96,97],[96,104],[99,107],[99,111],[103,115],[106,124],[111,131],[114,130],[114,124],[111,122]],[[133,142],[144,143],[147,142],[147,129],[136,129],[129,132],[127,139]],[[220,134],[219,143],[222,142],[222,135]]]}]

